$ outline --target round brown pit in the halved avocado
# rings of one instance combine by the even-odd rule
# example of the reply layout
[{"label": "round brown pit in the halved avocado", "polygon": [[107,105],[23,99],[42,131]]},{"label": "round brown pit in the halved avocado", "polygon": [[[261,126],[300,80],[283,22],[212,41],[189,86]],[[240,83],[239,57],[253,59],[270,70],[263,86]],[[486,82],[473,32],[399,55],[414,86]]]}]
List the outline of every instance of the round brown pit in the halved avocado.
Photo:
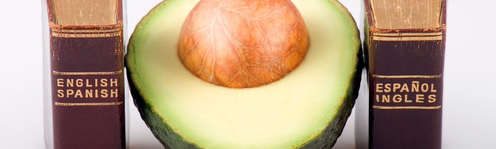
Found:
[{"label": "round brown pit in the halved avocado", "polygon": [[290,0],[200,0],[182,26],[178,56],[204,81],[245,88],[290,73],[308,48],[305,22]]}]

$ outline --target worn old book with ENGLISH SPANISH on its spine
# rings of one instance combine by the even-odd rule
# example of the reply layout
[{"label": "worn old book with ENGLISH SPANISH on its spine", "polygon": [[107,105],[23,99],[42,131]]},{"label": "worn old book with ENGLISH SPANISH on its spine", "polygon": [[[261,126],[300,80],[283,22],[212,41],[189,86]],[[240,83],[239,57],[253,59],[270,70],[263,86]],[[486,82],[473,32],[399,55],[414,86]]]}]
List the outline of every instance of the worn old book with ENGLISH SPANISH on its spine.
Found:
[{"label": "worn old book with ENGLISH SPANISH on its spine", "polygon": [[46,7],[47,148],[125,149],[122,0],[46,0]]}]

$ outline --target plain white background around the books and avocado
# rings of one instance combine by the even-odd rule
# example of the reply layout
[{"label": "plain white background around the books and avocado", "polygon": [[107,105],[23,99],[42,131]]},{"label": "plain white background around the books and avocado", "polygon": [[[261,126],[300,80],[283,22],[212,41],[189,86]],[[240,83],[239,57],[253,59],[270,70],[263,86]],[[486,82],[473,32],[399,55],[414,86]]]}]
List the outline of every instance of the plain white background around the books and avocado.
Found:
[{"label": "plain white background around the books and avocado", "polygon": [[[160,1],[127,0],[128,34]],[[360,22],[361,0],[341,2]],[[496,149],[495,5],[447,3],[443,149]],[[0,6],[0,149],[44,149],[41,1]],[[354,115],[333,149],[355,148]],[[130,149],[162,149],[132,104],[130,121]]]}]

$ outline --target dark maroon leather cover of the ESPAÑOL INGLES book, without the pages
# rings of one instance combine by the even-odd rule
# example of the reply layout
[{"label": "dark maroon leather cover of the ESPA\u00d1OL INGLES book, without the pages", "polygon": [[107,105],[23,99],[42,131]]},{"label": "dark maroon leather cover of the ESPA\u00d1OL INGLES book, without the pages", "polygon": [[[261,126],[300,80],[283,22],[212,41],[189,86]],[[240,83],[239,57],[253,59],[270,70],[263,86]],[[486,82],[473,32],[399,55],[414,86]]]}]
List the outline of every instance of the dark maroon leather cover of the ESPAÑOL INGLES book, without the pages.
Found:
[{"label": "dark maroon leather cover of the ESPA\u00d1OL INGLES book, without the pages", "polygon": [[440,149],[446,4],[438,28],[380,29],[365,0],[369,148]]}]

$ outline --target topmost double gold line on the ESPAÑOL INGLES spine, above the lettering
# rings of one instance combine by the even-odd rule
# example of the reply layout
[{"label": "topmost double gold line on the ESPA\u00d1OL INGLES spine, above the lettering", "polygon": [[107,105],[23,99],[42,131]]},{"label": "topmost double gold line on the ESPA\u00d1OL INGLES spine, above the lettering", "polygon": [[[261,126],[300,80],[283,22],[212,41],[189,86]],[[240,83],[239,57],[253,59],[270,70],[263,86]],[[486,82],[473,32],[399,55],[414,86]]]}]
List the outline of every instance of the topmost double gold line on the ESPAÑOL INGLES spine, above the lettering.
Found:
[{"label": "topmost double gold line on the ESPA\u00d1OL INGLES spine, above the lettering", "polygon": [[435,33],[372,33],[373,40],[380,41],[429,41],[442,40],[442,32]]}]

